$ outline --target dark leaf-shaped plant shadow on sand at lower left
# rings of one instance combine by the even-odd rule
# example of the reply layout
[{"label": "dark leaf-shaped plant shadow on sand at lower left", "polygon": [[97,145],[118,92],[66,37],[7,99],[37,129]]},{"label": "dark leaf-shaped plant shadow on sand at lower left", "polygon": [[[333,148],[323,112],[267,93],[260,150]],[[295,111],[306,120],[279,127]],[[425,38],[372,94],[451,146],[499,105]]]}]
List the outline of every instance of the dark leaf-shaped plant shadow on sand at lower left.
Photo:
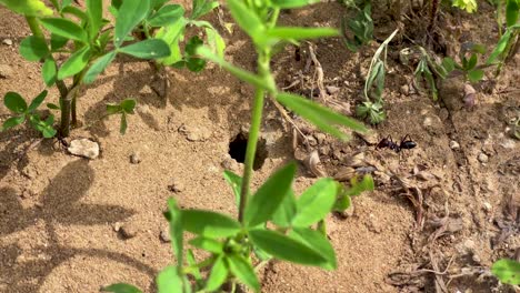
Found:
[{"label": "dark leaf-shaped plant shadow on sand at lower left", "polygon": [[[71,184],[72,179],[74,184]],[[109,259],[133,266],[153,280],[156,270],[124,253],[71,247],[60,241],[56,232],[57,225],[104,225],[123,221],[134,214],[133,211],[118,205],[81,203],[93,179],[93,169],[87,160],[72,161],[51,180],[42,192],[41,203],[33,208],[23,208],[14,189],[0,189],[0,238],[29,229],[42,221],[49,242],[33,249],[39,255],[51,256],[24,261],[24,257],[20,257],[23,250],[18,243],[3,245],[0,283],[9,284],[10,292],[38,292],[54,269],[78,255]],[[29,279],[36,282],[27,282]],[[153,286],[153,281],[150,285]]]}]

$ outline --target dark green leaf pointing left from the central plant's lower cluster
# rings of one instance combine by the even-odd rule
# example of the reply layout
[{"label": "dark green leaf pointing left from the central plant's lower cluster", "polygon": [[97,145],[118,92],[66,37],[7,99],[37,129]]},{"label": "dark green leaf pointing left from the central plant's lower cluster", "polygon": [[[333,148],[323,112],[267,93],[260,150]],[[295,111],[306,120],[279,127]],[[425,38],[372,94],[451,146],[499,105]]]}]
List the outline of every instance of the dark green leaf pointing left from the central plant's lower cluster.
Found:
[{"label": "dark green leaf pointing left from the central plant's lower cluster", "polygon": [[197,235],[219,239],[240,232],[240,224],[226,214],[201,210],[183,210],[181,214],[184,230]]}]

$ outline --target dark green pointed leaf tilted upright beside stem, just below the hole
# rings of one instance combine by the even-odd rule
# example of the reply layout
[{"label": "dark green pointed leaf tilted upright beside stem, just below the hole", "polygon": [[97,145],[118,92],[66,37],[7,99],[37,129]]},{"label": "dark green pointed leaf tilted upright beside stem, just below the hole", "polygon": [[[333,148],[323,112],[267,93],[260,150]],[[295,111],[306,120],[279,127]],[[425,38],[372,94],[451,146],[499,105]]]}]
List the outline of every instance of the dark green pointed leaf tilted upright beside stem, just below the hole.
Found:
[{"label": "dark green pointed leaf tilted upright beside stem, just below the hole", "polygon": [[258,189],[246,205],[246,226],[253,228],[271,219],[289,193],[294,173],[296,164],[290,163],[278,170]]}]

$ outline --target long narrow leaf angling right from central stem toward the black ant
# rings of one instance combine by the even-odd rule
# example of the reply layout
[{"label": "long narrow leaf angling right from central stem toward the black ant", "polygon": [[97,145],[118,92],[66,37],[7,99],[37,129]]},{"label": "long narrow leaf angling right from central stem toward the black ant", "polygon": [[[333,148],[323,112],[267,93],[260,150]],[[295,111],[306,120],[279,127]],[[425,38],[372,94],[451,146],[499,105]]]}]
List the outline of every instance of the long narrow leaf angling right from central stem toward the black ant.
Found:
[{"label": "long narrow leaf angling right from central stem toward the black ant", "polygon": [[328,132],[339,139],[347,139],[348,135],[334,128],[332,124],[348,127],[358,132],[367,132],[367,128],[360,122],[337,113],[323,105],[290,93],[277,93],[277,100],[289,108],[289,110],[309,120],[320,130]]}]

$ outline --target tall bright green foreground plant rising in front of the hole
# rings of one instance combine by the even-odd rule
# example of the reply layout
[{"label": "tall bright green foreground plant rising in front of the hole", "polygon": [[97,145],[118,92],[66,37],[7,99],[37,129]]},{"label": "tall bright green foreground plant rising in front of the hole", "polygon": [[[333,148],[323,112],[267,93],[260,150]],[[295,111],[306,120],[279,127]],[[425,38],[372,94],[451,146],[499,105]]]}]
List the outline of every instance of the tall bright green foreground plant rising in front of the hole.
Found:
[{"label": "tall bright green foreground plant rising in front of the hole", "polygon": [[[277,89],[270,61],[279,42],[297,42],[339,34],[337,30],[328,28],[276,26],[281,9],[303,7],[308,2],[227,1],[238,26],[252,39],[258,54],[256,73],[224,61],[203,46],[196,49],[198,55],[218,63],[256,88],[243,176],[230,171],[224,172],[224,178],[237,198],[238,220],[212,211],[180,210],[176,201],[170,199],[166,216],[170,223],[177,265],[167,266],[159,273],[159,292],[212,292],[218,291],[224,283],[230,284],[231,291],[234,292],[238,282],[259,292],[260,283],[253,264],[258,267],[273,259],[326,270],[336,269],[336,254],[326,236],[324,219],[331,211],[348,209],[351,196],[364,190],[372,190],[371,176],[367,175],[361,181],[352,179],[348,189],[332,179],[323,178],[297,199],[291,188],[296,164],[290,163],[274,172],[256,192],[250,190],[266,97],[339,139],[347,139],[348,135],[338,125],[359,132],[367,131],[354,120],[303,97]],[[207,255],[209,254],[206,259],[197,261],[191,250],[184,250],[183,232],[194,235],[189,244],[206,251]],[[202,277],[202,271],[209,272],[206,279]],[[104,290],[140,292],[139,289],[123,283]]]}]

